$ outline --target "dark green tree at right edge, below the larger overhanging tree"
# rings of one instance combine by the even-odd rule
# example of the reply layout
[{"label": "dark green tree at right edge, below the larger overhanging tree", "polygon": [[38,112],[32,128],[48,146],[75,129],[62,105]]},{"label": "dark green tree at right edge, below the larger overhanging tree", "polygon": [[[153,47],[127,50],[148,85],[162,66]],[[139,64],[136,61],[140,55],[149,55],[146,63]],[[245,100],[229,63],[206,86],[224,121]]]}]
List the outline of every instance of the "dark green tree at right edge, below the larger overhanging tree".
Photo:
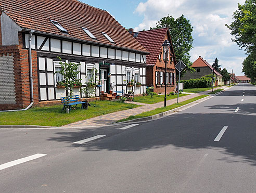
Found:
[{"label": "dark green tree at right edge, below the larger overhanging tree", "polygon": [[256,53],[253,52],[242,63],[242,72],[251,79],[251,82],[255,82],[256,78]]}]

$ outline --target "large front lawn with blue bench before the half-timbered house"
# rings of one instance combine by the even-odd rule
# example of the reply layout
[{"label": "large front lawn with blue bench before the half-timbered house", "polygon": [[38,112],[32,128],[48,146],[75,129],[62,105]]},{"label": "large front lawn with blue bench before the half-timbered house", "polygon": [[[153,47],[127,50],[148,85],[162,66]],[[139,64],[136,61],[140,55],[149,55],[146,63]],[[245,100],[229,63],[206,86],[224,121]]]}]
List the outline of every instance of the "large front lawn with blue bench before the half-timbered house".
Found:
[{"label": "large front lawn with blue bench before the half-timbered house", "polygon": [[139,107],[134,104],[123,104],[119,101],[95,101],[91,102],[88,110],[82,110],[81,105],[71,112],[61,112],[62,105],[49,107],[35,107],[27,111],[0,112],[1,125],[43,125],[62,126],[76,121],[97,117],[111,112]]}]

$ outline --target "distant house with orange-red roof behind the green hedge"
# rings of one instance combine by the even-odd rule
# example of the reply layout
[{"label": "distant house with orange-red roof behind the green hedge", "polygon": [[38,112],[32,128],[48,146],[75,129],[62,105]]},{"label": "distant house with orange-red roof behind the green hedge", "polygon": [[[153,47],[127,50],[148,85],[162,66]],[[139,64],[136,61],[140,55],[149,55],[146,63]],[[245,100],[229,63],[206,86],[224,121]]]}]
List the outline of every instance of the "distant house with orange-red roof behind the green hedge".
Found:
[{"label": "distant house with orange-red roof behind the green hedge", "polygon": [[204,60],[201,56],[193,62],[193,67],[196,71],[191,73],[187,71],[184,76],[181,78],[181,80],[189,80],[189,79],[198,79],[201,78],[202,76],[206,76],[208,74],[212,74],[212,70],[214,73],[214,86],[221,85],[222,83],[222,75],[217,72],[215,69],[212,68],[212,66]]}]

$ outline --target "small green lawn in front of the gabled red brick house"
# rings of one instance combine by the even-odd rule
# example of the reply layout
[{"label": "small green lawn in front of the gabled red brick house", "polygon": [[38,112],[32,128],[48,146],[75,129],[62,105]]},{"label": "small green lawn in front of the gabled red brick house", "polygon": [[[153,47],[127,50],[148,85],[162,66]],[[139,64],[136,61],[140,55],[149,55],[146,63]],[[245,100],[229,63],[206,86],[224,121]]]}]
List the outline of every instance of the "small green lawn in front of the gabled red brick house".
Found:
[{"label": "small green lawn in front of the gabled red brick house", "polygon": [[[179,94],[179,95],[167,95],[166,98],[167,100],[170,99],[174,99],[177,98],[177,96],[181,97],[181,96],[186,96],[187,94]],[[164,101],[164,95],[155,95],[153,96],[153,98],[151,98],[151,96],[138,96],[138,97],[134,97],[134,102],[142,102],[142,103],[146,103],[146,104],[154,104],[157,102],[161,102]]]}]

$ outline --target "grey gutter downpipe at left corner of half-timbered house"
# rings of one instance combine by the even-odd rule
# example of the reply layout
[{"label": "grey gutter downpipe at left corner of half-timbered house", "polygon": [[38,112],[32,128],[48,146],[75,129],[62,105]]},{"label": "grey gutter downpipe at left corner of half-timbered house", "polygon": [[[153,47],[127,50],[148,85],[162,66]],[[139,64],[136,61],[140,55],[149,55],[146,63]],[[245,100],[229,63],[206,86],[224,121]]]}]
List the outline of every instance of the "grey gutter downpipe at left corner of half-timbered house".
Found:
[{"label": "grey gutter downpipe at left corner of half-timbered house", "polygon": [[34,90],[33,90],[33,74],[32,74],[32,54],[31,54],[31,37],[33,36],[34,30],[29,31],[29,72],[30,72],[30,91],[31,91],[31,103],[25,109],[16,110],[5,110],[0,112],[12,112],[12,111],[25,111],[28,110],[34,104]]}]

